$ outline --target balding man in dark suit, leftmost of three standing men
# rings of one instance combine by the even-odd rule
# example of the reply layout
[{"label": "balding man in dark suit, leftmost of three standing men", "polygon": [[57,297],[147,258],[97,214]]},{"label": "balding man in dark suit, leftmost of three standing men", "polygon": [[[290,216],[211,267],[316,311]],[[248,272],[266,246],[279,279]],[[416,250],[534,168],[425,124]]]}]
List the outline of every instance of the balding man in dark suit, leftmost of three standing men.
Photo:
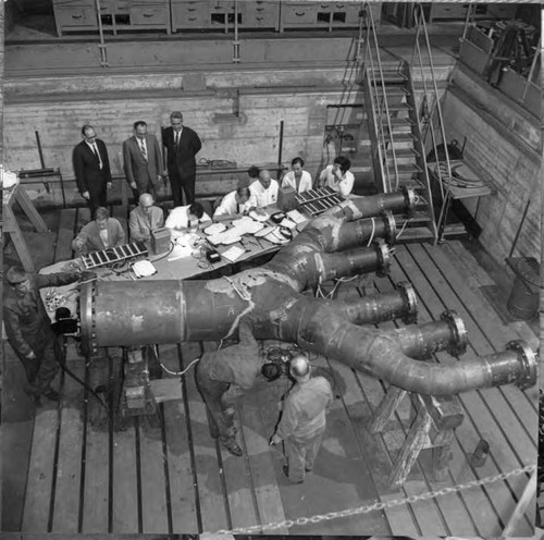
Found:
[{"label": "balding man in dark suit, leftmost of three standing men", "polygon": [[112,186],[110,160],[104,143],[97,138],[91,125],[85,124],[82,135],[83,140],[74,148],[72,160],[77,189],[95,219],[95,210],[107,205],[107,192]]}]

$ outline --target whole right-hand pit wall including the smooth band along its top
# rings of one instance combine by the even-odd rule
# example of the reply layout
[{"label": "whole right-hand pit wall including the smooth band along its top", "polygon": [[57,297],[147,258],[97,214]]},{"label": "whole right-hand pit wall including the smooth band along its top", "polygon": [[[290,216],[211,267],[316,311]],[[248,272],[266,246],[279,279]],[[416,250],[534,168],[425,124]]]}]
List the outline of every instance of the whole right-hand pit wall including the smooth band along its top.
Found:
[{"label": "whole right-hand pit wall including the smooth band along its top", "polygon": [[[508,102],[496,90],[484,88],[482,91],[480,84],[465,73],[455,72],[453,81],[443,108],[447,138],[456,138],[462,144],[467,137],[465,159],[496,189],[494,195],[480,199],[477,214],[483,229],[480,241],[502,263],[510,253],[523,210],[530,201],[514,256],[532,256],[540,260],[540,121]],[[463,202],[475,212],[475,199]]]}]

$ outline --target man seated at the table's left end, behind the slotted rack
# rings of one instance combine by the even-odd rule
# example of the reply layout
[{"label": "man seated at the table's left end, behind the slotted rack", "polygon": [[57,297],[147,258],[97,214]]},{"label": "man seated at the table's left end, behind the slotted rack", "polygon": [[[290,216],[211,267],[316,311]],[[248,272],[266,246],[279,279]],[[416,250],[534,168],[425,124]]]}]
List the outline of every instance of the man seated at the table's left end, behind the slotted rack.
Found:
[{"label": "man seated at the table's left end, behind the slotted rack", "polygon": [[72,249],[78,254],[87,254],[123,244],[126,244],[123,226],[115,218],[110,218],[107,208],[99,207],[95,219],[87,223],[72,242]]}]

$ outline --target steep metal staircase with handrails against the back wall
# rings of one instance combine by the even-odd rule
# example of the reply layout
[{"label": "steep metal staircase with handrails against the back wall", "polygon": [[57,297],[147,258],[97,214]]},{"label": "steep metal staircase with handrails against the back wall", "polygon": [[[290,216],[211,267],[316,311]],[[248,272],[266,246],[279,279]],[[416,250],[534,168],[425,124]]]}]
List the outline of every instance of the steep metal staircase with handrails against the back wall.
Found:
[{"label": "steep metal staircase with handrails against the back wall", "polygon": [[[430,91],[423,76],[422,97],[417,100],[411,72],[416,53],[412,54],[411,65],[401,59],[383,61],[372,11],[368,3],[364,3],[364,7],[368,30],[362,85],[376,189],[390,193],[404,187],[413,188],[419,197],[418,206],[415,213],[401,225],[405,230],[400,235],[400,242],[429,241],[434,244],[438,240],[438,230],[425,160],[422,120],[425,122],[425,135],[431,133],[435,147],[436,136],[433,125],[426,120],[431,116],[429,103],[432,103],[433,111],[436,108],[440,110],[436,84],[433,79],[434,91]],[[429,51],[430,44],[424,20],[420,23],[415,51],[418,51],[423,74],[419,48],[420,28],[423,28]],[[433,70],[431,74],[434,77]],[[449,162],[447,165],[449,168]]]}]

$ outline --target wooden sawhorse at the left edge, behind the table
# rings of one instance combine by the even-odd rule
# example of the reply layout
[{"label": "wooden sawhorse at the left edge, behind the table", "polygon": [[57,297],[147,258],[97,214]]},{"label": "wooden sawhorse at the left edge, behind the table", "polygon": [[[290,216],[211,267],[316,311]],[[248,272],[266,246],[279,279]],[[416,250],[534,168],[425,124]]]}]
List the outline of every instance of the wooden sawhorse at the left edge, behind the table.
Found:
[{"label": "wooden sawhorse at the left edge, behind the table", "polygon": [[15,246],[18,258],[23,268],[27,272],[34,272],[34,261],[26,245],[25,238],[18,226],[15,214],[13,213],[13,204],[18,202],[18,206],[25,212],[26,217],[30,220],[37,232],[45,233],[48,231],[45,221],[34,207],[30,198],[21,184],[16,184],[12,189],[3,189],[2,204],[3,204],[3,232],[8,233]]}]

